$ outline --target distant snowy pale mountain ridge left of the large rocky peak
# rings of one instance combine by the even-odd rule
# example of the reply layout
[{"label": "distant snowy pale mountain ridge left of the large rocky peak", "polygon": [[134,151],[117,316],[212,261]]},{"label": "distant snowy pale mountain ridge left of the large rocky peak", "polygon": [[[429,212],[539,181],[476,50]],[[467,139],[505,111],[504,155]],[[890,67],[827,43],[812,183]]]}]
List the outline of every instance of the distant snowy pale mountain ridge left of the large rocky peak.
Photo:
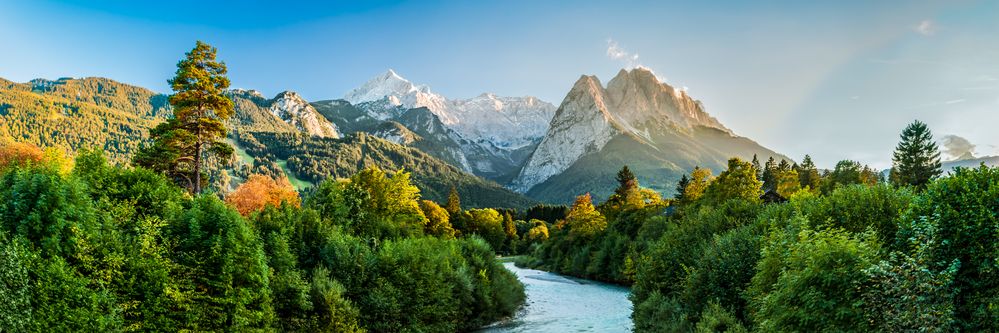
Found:
[{"label": "distant snowy pale mountain ridge left of the large rocky peak", "polygon": [[450,130],[464,155],[466,171],[506,180],[541,141],[555,106],[535,97],[481,94],[447,99],[427,86],[416,85],[388,70],[344,96],[369,116],[390,120],[407,110],[426,108]]}]

